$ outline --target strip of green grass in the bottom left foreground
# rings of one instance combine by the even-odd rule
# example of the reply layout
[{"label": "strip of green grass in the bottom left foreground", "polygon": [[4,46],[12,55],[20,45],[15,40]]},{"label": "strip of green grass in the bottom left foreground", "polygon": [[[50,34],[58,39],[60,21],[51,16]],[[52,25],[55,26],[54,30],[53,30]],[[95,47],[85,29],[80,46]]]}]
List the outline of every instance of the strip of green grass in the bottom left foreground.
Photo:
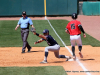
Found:
[{"label": "strip of green grass in the bottom left foreground", "polygon": [[0,67],[0,75],[67,75],[62,66]]}]

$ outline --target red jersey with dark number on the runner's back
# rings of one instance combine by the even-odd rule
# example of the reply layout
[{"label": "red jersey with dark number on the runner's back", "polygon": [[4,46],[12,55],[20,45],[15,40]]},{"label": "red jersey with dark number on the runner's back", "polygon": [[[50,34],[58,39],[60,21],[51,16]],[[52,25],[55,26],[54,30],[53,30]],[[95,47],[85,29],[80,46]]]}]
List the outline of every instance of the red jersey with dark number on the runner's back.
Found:
[{"label": "red jersey with dark number on the runner's back", "polygon": [[67,24],[66,28],[70,32],[70,35],[81,34],[81,31],[80,31],[78,25],[81,25],[81,23],[80,23],[80,21],[77,21],[77,20],[72,20]]}]

